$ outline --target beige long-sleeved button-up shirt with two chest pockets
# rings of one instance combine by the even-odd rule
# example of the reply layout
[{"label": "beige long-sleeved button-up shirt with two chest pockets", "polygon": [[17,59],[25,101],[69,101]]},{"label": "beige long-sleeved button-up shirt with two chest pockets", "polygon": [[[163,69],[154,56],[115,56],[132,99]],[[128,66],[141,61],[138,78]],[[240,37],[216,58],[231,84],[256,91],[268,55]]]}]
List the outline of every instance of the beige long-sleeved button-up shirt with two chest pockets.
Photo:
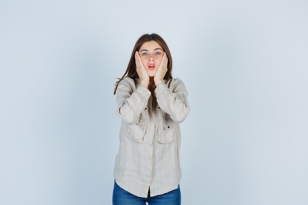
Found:
[{"label": "beige long-sleeved button-up shirt with two chest pockets", "polygon": [[[120,147],[114,177],[129,193],[146,198],[178,188],[180,124],[188,115],[187,91],[180,79],[164,80],[154,95],[131,78],[117,89],[118,115],[122,118]],[[153,98],[156,97],[156,101]]]}]

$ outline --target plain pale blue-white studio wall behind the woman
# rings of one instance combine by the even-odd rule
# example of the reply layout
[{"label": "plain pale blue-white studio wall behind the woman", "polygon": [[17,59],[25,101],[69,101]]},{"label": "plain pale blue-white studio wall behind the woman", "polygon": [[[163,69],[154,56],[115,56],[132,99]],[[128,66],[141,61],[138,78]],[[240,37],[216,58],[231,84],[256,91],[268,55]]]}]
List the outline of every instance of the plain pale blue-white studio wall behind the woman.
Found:
[{"label": "plain pale blue-white studio wall behind the woman", "polygon": [[191,113],[183,205],[308,205],[307,0],[0,0],[0,205],[111,205],[113,95],[158,33]]}]

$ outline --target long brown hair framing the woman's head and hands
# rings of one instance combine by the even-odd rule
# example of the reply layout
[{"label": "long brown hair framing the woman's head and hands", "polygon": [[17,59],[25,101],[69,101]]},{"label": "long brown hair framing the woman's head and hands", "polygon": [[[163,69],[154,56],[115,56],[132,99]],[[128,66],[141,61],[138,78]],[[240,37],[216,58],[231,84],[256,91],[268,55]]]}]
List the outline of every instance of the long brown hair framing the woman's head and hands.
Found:
[{"label": "long brown hair framing the woman's head and hands", "polygon": [[131,53],[131,56],[130,56],[130,60],[129,60],[129,63],[128,63],[128,66],[127,66],[127,69],[124,73],[124,75],[122,76],[122,78],[118,78],[119,81],[117,81],[116,83],[116,88],[115,88],[115,91],[114,91],[114,95],[116,94],[116,91],[117,91],[117,88],[118,88],[118,85],[119,83],[123,80],[123,78],[125,77],[130,77],[132,79],[136,79],[136,78],[139,78],[138,77],[138,73],[137,73],[137,70],[136,70],[136,62],[135,62],[135,52],[136,51],[139,51],[140,47],[145,43],[145,42],[148,42],[148,41],[156,41],[160,46],[161,48],[163,49],[164,52],[166,52],[166,55],[168,57],[168,65],[167,65],[167,72],[166,72],[166,75],[164,77],[164,79],[171,79],[172,78],[172,58],[171,58],[171,53],[169,51],[169,48],[166,44],[166,42],[164,41],[164,39],[162,39],[162,37],[160,37],[158,34],[155,34],[155,33],[152,33],[152,34],[144,34],[142,35],[136,42],[135,46],[134,46],[134,49]]}]

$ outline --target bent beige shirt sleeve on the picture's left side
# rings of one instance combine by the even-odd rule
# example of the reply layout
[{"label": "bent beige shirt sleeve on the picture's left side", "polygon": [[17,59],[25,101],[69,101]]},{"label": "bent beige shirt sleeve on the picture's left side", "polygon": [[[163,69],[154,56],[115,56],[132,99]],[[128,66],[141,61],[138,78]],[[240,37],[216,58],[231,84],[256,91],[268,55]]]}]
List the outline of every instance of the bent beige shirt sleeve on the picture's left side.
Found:
[{"label": "bent beige shirt sleeve on the picture's left side", "polygon": [[135,88],[133,79],[124,78],[117,88],[118,115],[128,124],[137,123],[150,95],[151,91],[147,88]]}]

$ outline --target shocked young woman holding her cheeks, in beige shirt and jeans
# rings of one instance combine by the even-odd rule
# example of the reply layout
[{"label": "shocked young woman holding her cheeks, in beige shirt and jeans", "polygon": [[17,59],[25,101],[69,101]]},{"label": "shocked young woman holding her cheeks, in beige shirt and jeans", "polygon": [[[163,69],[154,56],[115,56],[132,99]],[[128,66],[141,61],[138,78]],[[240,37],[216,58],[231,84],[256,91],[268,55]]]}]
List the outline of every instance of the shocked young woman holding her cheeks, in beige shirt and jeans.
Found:
[{"label": "shocked young woman holding her cheeks, in beige shirt and jeans", "polygon": [[122,118],[113,205],[180,205],[181,132],[187,91],[171,75],[172,59],[157,34],[142,35],[116,83]]}]

